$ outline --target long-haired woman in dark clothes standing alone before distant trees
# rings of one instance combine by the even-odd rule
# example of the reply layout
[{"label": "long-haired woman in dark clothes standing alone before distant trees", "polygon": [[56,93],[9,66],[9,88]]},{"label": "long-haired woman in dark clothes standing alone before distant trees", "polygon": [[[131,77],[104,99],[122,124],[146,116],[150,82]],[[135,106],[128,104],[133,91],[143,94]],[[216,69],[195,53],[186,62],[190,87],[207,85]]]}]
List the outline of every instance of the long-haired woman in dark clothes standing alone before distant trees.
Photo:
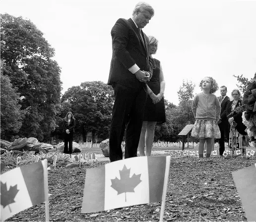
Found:
[{"label": "long-haired woman in dark clothes standing alone before distant trees", "polygon": [[[64,133],[64,153],[72,153],[72,142],[74,135],[75,118],[71,112],[67,112],[63,119],[63,133]],[[67,149],[68,143],[68,149]]]}]

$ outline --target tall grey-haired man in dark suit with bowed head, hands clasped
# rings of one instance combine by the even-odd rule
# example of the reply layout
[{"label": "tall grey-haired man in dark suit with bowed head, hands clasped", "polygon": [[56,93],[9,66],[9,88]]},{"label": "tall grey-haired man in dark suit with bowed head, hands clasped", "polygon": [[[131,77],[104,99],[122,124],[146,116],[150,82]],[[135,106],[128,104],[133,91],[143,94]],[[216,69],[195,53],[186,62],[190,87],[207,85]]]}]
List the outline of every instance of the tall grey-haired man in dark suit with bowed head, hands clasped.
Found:
[{"label": "tall grey-haired man in dark suit with bowed head, hands clasped", "polygon": [[118,19],[111,30],[112,60],[108,84],[114,89],[115,103],[109,137],[110,161],[122,160],[122,140],[126,129],[125,158],[137,156],[147,97],[146,82],[152,76],[149,41],[142,32],[154,9],[136,4],[132,18]]}]

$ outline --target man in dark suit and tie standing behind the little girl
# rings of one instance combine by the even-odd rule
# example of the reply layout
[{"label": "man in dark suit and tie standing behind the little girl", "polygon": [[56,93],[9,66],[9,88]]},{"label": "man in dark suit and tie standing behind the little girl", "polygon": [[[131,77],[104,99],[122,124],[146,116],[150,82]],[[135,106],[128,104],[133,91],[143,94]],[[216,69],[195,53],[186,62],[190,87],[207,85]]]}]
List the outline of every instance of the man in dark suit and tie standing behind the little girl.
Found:
[{"label": "man in dark suit and tie standing behind the little girl", "polygon": [[229,123],[227,119],[226,108],[230,100],[227,96],[227,87],[220,87],[220,95],[221,96],[218,97],[221,107],[220,120],[218,122],[218,126],[220,129],[219,153],[220,156],[223,156],[223,152],[225,151],[225,135],[229,141]]}]

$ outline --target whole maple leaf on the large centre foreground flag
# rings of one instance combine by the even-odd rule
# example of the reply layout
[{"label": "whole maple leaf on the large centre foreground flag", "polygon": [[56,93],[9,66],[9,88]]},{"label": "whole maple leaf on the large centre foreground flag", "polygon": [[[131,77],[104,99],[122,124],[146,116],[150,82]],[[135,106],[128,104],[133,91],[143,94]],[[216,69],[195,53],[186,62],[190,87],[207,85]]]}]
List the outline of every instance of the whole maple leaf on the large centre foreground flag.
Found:
[{"label": "whole maple leaf on the large centre foreground flag", "polygon": [[133,174],[130,178],[130,169],[127,169],[126,165],[124,166],[122,171],[119,171],[119,174],[120,179],[117,177],[115,179],[111,179],[111,187],[118,191],[118,195],[121,193],[125,193],[126,195],[127,192],[134,193],[134,188],[142,181],[140,180],[141,174]]}]

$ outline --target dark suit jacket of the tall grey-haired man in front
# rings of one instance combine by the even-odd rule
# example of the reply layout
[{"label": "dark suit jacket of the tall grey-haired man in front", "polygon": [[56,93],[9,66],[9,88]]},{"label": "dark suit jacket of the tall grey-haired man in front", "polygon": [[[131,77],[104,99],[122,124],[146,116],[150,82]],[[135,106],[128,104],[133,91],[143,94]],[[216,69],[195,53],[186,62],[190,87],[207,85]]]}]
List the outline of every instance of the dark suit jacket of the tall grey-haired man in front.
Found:
[{"label": "dark suit jacket of the tall grey-haired man in front", "polygon": [[145,87],[128,69],[135,63],[140,70],[152,72],[152,63],[149,61],[149,41],[142,32],[143,41],[138,28],[132,19],[120,18],[111,30],[112,59],[110,65],[108,85],[119,83],[130,88]]}]

